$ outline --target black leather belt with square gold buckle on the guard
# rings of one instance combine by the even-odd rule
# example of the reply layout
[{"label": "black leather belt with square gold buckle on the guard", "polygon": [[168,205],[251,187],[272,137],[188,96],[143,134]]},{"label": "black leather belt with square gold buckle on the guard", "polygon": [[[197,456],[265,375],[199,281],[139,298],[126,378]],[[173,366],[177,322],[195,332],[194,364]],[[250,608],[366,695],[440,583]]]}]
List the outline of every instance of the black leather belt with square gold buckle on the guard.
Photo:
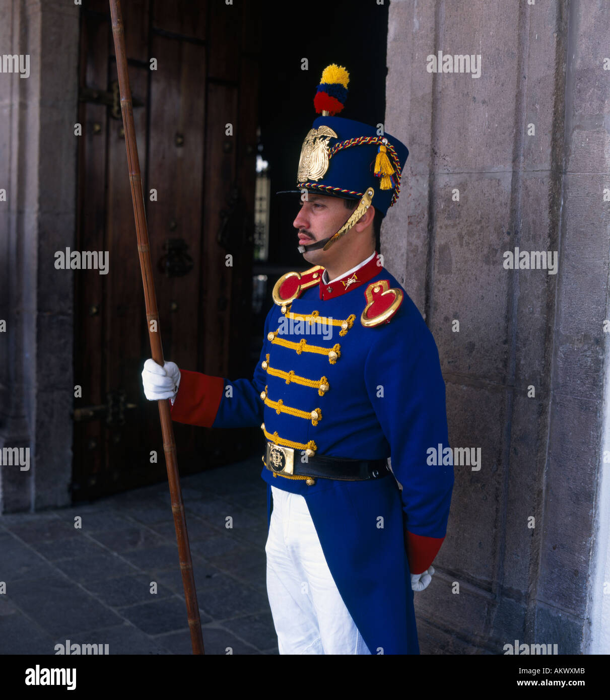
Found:
[{"label": "black leather belt with square gold buckle on the guard", "polygon": [[366,481],[368,479],[382,479],[391,474],[384,459],[341,459],[314,454],[307,457],[307,462],[300,461],[300,454],[291,447],[267,443],[267,458],[263,457],[265,467],[275,474],[289,478],[307,478],[315,483],[314,479],[337,479],[338,481]]}]

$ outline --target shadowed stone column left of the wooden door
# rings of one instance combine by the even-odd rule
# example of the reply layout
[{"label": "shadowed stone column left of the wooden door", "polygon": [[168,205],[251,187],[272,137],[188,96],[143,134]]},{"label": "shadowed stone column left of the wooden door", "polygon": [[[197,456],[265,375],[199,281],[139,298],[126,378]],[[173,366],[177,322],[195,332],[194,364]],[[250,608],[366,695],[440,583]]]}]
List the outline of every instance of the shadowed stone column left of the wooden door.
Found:
[{"label": "shadowed stone column left of the wooden door", "polygon": [[75,237],[78,7],[0,0],[0,16],[0,55],[29,56],[29,76],[0,73],[0,449],[29,448],[29,470],[0,468],[15,512],[71,500],[73,278],[54,253]]}]

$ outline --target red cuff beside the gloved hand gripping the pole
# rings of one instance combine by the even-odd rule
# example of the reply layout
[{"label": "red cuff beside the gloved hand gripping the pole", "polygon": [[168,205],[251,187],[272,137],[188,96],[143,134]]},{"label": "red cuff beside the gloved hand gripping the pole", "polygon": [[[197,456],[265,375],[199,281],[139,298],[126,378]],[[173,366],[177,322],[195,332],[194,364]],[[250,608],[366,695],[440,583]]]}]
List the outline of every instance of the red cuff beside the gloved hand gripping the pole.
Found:
[{"label": "red cuff beside the gloved hand gripping the pole", "polygon": [[224,384],[223,377],[181,369],[180,386],[170,409],[172,421],[211,428],[221,404]]}]

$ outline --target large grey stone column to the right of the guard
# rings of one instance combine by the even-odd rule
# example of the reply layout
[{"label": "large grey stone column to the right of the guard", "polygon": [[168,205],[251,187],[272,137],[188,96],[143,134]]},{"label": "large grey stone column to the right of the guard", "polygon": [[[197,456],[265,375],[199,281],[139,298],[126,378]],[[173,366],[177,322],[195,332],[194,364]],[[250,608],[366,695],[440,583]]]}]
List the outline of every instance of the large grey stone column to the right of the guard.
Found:
[{"label": "large grey stone column to the right of the guard", "polygon": [[[438,574],[415,594],[424,653],[601,648],[609,34],[595,2],[389,8],[385,126],[410,155],[382,253],[436,339],[451,447],[482,454],[455,466]],[[429,72],[439,51],[480,56],[480,77]],[[557,269],[506,269],[515,247]]]}]

